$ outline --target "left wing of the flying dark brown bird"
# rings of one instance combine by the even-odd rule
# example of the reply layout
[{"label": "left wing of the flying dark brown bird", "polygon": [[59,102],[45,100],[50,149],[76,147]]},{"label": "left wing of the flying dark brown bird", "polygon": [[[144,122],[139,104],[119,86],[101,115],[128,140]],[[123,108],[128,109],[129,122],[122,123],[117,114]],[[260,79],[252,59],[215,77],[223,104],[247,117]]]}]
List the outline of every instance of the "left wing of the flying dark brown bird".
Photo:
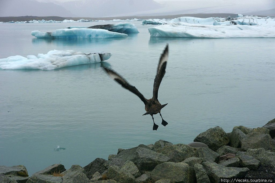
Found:
[{"label": "left wing of the flying dark brown bird", "polygon": [[130,85],[123,77],[121,77],[119,74],[117,74],[115,71],[108,69],[106,67],[103,67],[105,71],[109,74],[109,76],[114,79],[116,82],[121,84],[123,88],[126,88],[127,90],[133,92],[134,94],[138,95],[138,97],[142,100],[142,102],[146,105],[147,99],[138,91],[138,89],[132,85]]}]

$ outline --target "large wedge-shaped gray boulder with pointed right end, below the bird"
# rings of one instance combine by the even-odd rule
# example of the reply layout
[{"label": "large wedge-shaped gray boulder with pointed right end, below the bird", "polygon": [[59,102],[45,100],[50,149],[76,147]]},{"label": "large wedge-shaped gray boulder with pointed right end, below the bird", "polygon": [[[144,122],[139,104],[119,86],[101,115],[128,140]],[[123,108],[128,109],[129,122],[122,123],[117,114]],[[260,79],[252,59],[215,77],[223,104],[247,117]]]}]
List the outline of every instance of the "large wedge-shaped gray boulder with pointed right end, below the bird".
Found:
[{"label": "large wedge-shaped gray boulder with pointed right end, below the bird", "polygon": [[153,170],[156,165],[170,160],[170,158],[161,153],[141,147],[136,150],[136,154],[136,164],[141,172],[144,172],[145,170]]}]

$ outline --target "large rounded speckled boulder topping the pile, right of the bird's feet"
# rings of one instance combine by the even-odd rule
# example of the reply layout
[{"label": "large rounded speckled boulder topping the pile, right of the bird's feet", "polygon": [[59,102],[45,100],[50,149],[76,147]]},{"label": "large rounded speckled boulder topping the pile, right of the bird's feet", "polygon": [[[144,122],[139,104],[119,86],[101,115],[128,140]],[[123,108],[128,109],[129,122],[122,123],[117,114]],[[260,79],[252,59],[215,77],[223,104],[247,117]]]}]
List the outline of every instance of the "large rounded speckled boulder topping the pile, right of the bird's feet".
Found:
[{"label": "large rounded speckled boulder topping the pile, right of the bird's feet", "polygon": [[215,151],[221,146],[227,145],[229,143],[229,138],[221,127],[214,127],[200,133],[196,136],[194,142],[205,143],[210,149]]}]

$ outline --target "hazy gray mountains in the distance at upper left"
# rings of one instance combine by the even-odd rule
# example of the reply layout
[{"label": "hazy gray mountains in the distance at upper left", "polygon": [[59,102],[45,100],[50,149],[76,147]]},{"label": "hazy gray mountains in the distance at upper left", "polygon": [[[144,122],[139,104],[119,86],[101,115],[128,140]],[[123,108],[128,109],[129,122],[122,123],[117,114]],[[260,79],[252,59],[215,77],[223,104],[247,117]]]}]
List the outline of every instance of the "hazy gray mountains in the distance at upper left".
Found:
[{"label": "hazy gray mountains in the distance at upper left", "polygon": [[35,0],[1,0],[0,17],[4,16],[62,16],[106,17],[126,16],[128,13],[160,8],[153,0],[78,0],[56,4]]}]

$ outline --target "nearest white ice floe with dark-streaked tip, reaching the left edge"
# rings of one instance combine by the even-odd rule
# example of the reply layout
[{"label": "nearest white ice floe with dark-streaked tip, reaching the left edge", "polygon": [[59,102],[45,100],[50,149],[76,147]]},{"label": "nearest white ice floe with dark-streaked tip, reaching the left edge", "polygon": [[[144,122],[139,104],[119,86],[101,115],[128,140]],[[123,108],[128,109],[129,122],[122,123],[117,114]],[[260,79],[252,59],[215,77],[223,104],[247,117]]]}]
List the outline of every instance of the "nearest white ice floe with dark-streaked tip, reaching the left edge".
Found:
[{"label": "nearest white ice floe with dark-streaked tip, reaching the left edge", "polygon": [[97,52],[85,54],[83,52],[75,52],[73,50],[59,51],[51,50],[47,54],[39,53],[37,56],[9,56],[0,59],[0,69],[40,69],[53,70],[62,67],[98,63],[109,59],[111,53]]}]

